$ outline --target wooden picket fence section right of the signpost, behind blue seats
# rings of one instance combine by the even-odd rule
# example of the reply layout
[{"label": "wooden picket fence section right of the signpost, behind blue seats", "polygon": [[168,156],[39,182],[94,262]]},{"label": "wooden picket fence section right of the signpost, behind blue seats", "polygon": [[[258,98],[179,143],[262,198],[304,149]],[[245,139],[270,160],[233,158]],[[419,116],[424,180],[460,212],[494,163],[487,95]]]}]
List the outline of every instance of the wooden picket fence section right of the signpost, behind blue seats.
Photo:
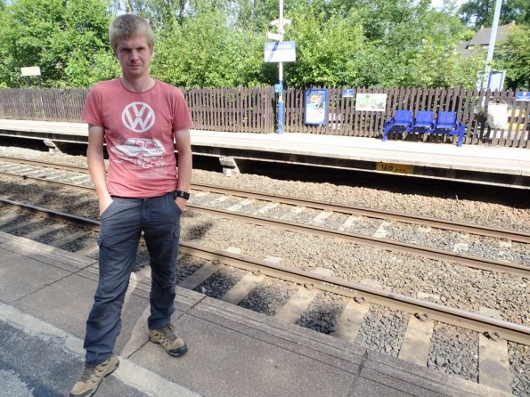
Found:
[{"label": "wooden picket fence section right of the signpost, behind blue seats", "polygon": [[[395,116],[397,109],[456,111],[457,119],[466,125],[464,142],[468,144],[493,144],[507,147],[530,148],[528,130],[530,105],[528,101],[515,101],[513,91],[485,91],[420,88],[359,88],[355,93],[385,93],[385,111],[358,111],[355,99],[344,97],[342,88],[328,89],[329,117],[326,126],[304,124],[305,89],[288,89],[285,94],[285,131],[308,134],[336,134],[363,137],[380,137],[385,120]],[[486,122],[490,103],[508,104],[508,128],[492,129]],[[425,136],[421,137],[425,139]]]}]

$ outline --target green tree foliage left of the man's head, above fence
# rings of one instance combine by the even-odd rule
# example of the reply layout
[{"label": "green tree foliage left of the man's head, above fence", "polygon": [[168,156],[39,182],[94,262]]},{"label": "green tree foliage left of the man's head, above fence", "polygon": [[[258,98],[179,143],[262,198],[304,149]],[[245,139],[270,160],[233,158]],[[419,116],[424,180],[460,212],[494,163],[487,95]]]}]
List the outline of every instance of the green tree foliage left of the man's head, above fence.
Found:
[{"label": "green tree foliage left of the man's head, above fence", "polygon": [[16,0],[2,13],[0,81],[23,84],[20,68],[39,66],[46,86],[85,86],[94,56],[108,52],[105,0]]}]

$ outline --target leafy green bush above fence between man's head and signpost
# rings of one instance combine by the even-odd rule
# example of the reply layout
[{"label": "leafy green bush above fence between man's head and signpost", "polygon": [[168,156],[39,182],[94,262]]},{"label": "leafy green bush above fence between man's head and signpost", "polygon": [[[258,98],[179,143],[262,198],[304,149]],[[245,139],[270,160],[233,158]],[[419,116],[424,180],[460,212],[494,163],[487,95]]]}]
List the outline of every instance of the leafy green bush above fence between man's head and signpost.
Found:
[{"label": "leafy green bush above fence between man's head and signpost", "polygon": [[263,42],[230,28],[222,12],[208,9],[159,32],[153,76],[183,87],[257,85]]}]

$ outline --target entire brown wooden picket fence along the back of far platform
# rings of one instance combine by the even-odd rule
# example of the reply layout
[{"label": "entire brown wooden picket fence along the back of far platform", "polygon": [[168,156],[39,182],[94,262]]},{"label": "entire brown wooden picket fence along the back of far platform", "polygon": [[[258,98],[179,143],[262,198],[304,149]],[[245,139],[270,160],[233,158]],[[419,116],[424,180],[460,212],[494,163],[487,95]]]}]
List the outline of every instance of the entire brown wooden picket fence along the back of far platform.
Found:
[{"label": "entire brown wooden picket fence along the back of far platform", "polygon": [[[273,87],[197,88],[183,90],[192,112],[194,127],[246,133],[273,133],[276,128],[276,98]],[[356,95],[343,96],[342,88],[328,89],[329,122],[326,126],[304,124],[305,89],[289,88],[284,93],[285,133],[336,134],[361,137],[381,136],[388,117],[396,109],[456,111],[466,125],[466,144],[492,144],[530,148],[530,105],[516,101],[513,91],[375,88],[355,93],[387,94],[384,111],[356,110]],[[79,122],[87,90],[3,89],[0,90],[0,118]],[[490,103],[508,104],[507,129],[492,129],[485,115]],[[425,136],[406,139],[425,139]],[[430,139],[430,136],[429,136]],[[452,138],[449,138],[452,139]]]}]

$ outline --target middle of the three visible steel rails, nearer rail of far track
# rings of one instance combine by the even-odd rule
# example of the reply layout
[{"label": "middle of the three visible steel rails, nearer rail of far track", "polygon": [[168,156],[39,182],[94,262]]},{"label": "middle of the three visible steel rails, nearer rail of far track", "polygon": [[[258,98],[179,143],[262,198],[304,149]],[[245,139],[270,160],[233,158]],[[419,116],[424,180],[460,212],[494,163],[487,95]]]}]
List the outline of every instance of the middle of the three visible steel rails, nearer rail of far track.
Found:
[{"label": "middle of the three visible steel rails, nearer rail of far track", "polygon": [[[69,182],[49,181],[44,178],[24,177],[23,175],[11,174],[11,173],[6,173],[6,172],[0,172],[0,174],[10,174],[12,176],[22,178],[22,179],[31,178],[37,181],[53,183],[53,184],[57,184],[63,187],[73,187],[76,189],[81,188],[81,189],[90,190],[90,191],[94,190],[94,187],[92,186],[77,185],[77,184],[69,183]],[[486,258],[481,258],[478,256],[471,256],[471,255],[455,255],[455,254],[448,253],[447,251],[436,249],[436,248],[418,247],[413,244],[402,243],[399,241],[389,241],[385,239],[378,239],[375,237],[363,236],[361,234],[347,233],[346,231],[334,231],[334,230],[330,230],[330,229],[326,229],[326,228],[322,228],[322,227],[318,227],[314,225],[301,225],[298,223],[290,223],[290,222],[281,221],[278,219],[268,219],[263,216],[249,215],[249,214],[241,215],[241,214],[233,213],[231,211],[226,211],[224,209],[201,207],[201,206],[197,206],[191,203],[188,204],[186,207],[199,211],[201,213],[212,214],[216,216],[222,215],[224,217],[237,219],[239,221],[243,221],[246,223],[254,223],[254,224],[259,224],[262,226],[281,228],[286,231],[303,232],[309,235],[331,237],[335,239],[345,239],[347,241],[354,242],[357,244],[370,245],[370,246],[385,248],[391,251],[400,251],[400,252],[404,252],[408,254],[420,255],[420,256],[424,256],[424,257],[435,259],[435,260],[460,263],[468,267],[481,269],[485,271],[504,271],[504,272],[507,272],[507,273],[510,273],[512,275],[516,275],[519,277],[526,277],[526,278],[530,277],[530,266],[525,266],[525,265],[518,264],[518,263],[494,261],[493,259],[486,259]]]}]

